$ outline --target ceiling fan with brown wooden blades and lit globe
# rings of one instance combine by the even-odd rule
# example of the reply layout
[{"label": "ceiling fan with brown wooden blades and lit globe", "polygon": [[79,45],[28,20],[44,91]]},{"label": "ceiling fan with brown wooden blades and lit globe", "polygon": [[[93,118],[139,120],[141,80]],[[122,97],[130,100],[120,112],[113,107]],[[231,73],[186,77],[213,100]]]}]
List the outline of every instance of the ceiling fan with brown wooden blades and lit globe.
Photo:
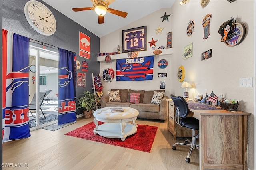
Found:
[{"label": "ceiling fan with brown wooden blades and lit globe", "polygon": [[73,11],[85,11],[85,10],[95,10],[98,14],[98,23],[104,23],[104,15],[106,12],[110,12],[112,14],[121,16],[125,18],[127,16],[127,12],[114,10],[112,8],[108,8],[108,5],[114,2],[115,0],[91,0],[93,2],[94,7],[84,7],[84,8],[72,8]]}]

